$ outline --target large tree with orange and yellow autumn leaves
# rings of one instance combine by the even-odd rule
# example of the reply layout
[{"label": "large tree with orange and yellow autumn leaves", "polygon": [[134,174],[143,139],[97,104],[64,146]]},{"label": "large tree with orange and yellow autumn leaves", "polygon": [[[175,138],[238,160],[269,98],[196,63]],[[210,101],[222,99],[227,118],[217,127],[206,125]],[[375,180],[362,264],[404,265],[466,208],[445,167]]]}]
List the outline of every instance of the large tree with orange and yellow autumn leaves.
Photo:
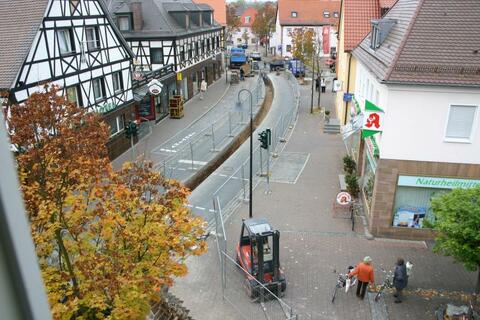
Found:
[{"label": "large tree with orange and yellow autumn leaves", "polygon": [[142,319],[205,251],[188,190],[151,163],[114,172],[100,116],[45,87],[7,111],[21,188],[56,319]]}]

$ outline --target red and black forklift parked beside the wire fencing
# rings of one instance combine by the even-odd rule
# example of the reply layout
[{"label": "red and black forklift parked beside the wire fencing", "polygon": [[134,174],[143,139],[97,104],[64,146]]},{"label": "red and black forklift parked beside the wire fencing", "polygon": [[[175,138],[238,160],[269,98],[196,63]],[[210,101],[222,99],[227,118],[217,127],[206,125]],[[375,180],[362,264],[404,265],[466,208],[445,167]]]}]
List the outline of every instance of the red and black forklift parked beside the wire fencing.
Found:
[{"label": "red and black forklift parked beside the wire fencing", "polygon": [[[280,269],[280,232],[274,230],[267,219],[243,220],[240,242],[236,247],[237,263],[245,273],[245,286],[250,298],[268,295],[265,286],[277,297],[287,288],[285,275]],[[261,284],[262,285],[261,285]]]}]

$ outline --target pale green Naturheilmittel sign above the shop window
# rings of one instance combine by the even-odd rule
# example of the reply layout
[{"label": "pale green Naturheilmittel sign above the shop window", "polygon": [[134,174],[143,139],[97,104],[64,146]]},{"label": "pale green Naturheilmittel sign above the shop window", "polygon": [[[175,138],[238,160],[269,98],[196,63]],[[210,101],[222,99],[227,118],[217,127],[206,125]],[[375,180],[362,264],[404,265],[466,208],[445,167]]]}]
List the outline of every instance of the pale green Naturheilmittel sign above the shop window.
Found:
[{"label": "pale green Naturheilmittel sign above the shop window", "polygon": [[468,188],[474,188],[476,186],[480,186],[480,180],[399,176],[398,185],[405,186],[405,187],[419,187],[419,188],[468,189]]}]

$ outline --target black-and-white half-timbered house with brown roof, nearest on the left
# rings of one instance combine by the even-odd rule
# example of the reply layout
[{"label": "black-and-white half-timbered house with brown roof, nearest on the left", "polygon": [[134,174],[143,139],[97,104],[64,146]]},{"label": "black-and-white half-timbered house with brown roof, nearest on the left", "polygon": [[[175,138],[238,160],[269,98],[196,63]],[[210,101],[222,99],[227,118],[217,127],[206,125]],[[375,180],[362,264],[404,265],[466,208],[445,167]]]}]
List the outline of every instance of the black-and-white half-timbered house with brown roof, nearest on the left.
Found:
[{"label": "black-and-white half-timbered house with brown roof, nearest on the left", "polygon": [[0,12],[0,88],[10,102],[56,84],[104,116],[112,158],[126,150],[120,133],[133,112],[133,52],[103,0],[2,1]]}]

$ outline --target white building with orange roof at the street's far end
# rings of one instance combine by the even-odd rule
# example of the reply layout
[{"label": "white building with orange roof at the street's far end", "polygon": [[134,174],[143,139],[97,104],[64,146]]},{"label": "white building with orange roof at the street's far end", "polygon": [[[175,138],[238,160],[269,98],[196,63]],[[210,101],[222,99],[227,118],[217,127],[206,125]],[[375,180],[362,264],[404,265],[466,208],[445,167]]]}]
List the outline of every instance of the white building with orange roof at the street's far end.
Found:
[{"label": "white building with orange roof at the street's far end", "polygon": [[297,28],[315,31],[321,47],[320,56],[336,54],[340,0],[278,0],[275,32],[270,39],[270,52],[292,56],[292,32]]}]

